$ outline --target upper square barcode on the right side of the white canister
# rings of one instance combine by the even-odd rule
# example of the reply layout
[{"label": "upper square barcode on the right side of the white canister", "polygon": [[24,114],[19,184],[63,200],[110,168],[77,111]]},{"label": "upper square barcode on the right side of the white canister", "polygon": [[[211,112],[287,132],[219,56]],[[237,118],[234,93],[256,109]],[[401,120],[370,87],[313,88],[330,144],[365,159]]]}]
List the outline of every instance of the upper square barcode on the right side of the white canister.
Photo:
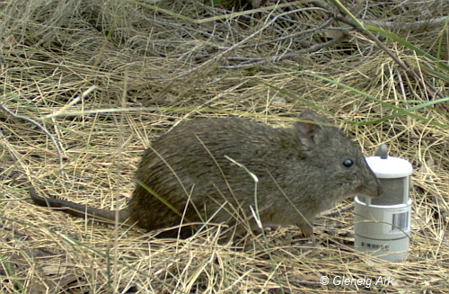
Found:
[{"label": "upper square barcode on the right side of the white canister", "polygon": [[383,234],[396,235],[410,231],[410,208],[385,209],[383,211]]}]

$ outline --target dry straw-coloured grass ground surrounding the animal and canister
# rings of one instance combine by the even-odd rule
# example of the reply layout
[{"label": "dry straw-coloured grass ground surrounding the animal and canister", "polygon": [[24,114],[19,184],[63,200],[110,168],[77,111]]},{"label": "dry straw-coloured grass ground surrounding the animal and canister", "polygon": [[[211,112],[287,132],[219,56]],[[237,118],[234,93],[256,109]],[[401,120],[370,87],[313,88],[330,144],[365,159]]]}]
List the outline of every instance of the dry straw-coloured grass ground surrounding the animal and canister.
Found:
[{"label": "dry straw-coloured grass ground surrounding the animal and canister", "polygon": [[[374,31],[385,49],[335,3],[239,6],[251,4],[0,1],[0,292],[449,293],[449,3],[343,1],[359,21],[408,42]],[[145,147],[181,120],[282,126],[308,108],[366,156],[385,142],[413,165],[404,263],[354,252],[353,210],[341,210],[350,201],[315,221],[314,245],[286,227],[242,250],[218,245],[213,230],[155,239],[29,199],[32,185],[119,208]],[[323,275],[394,281],[325,286]]]}]

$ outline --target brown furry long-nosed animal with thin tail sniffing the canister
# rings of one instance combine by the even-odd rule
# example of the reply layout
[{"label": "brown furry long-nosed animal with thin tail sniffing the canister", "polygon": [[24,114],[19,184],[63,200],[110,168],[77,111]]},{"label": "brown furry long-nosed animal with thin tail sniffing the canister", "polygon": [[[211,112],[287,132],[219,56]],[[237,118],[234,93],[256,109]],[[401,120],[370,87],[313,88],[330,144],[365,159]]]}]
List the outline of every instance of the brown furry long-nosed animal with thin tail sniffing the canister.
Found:
[{"label": "brown furry long-nosed animal with thin tail sniffing the canister", "polygon": [[[380,195],[380,183],[359,147],[315,112],[304,111],[300,117],[309,121],[286,129],[239,118],[180,124],[145,150],[136,171],[136,189],[128,209],[119,210],[119,221],[146,230],[209,221],[237,225],[239,236],[245,227],[257,228],[250,219],[250,207],[255,208],[254,181],[225,156],[258,177],[257,200],[264,227],[295,225],[312,236],[311,222],[321,211],[354,195]],[[31,198],[40,205],[68,208],[76,216],[87,211],[94,218],[115,219],[115,211],[43,199],[34,192]],[[163,236],[189,236],[197,227],[173,229]]]}]

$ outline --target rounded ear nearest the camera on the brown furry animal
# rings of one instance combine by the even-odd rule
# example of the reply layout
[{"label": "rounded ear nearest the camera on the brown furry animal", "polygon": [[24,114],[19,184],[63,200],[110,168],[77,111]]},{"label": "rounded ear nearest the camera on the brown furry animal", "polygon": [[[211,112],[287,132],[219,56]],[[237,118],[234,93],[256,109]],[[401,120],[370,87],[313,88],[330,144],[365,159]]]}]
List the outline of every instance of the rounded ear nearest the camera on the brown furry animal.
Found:
[{"label": "rounded ear nearest the camera on the brown furry animal", "polygon": [[303,111],[299,118],[302,121],[296,122],[295,128],[300,133],[299,139],[301,142],[309,147],[318,144],[320,138],[323,137],[322,124],[327,124],[329,121],[315,111]]}]

